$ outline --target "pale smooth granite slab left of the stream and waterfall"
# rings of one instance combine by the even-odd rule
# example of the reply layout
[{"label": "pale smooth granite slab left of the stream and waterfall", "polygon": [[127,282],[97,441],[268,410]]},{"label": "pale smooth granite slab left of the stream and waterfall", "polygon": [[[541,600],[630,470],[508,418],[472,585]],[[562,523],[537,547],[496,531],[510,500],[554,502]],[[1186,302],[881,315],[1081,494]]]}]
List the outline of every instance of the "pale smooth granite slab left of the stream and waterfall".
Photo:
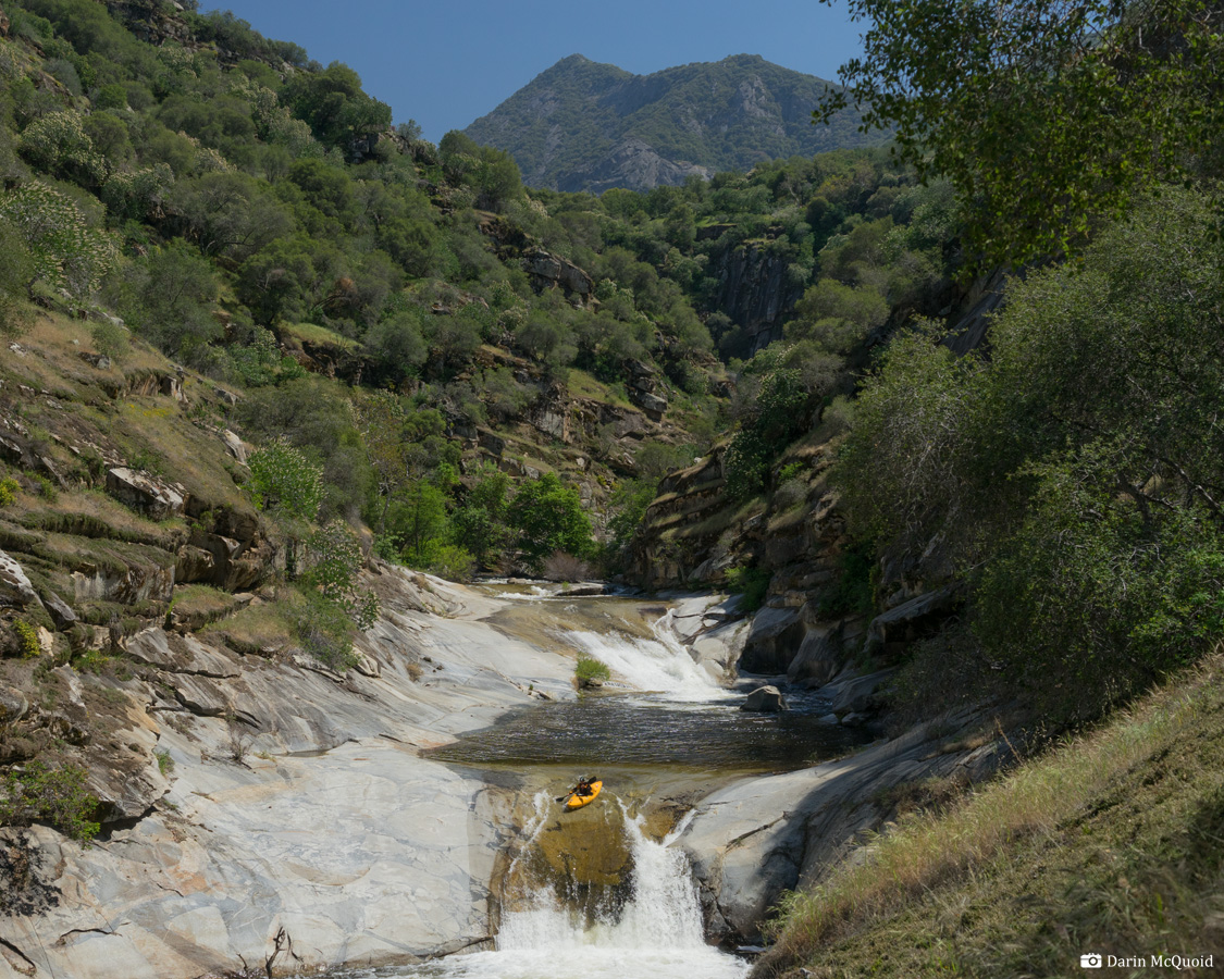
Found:
[{"label": "pale smooth granite slab left of the stream and waterfall", "polygon": [[89,848],[0,831],[33,865],[28,913],[0,917],[0,979],[262,975],[280,929],[310,973],[487,940],[506,800],[420,749],[531,702],[529,685],[573,696],[573,661],[482,623],[492,600],[399,570],[376,581],[384,613],[360,644],[373,677],[329,679],[160,629],[130,640],[157,671],[129,684],[148,688],[140,717],[154,729],[116,742],[146,738],[151,761],[155,743],[173,772],[151,764],[141,791],[155,804]]}]

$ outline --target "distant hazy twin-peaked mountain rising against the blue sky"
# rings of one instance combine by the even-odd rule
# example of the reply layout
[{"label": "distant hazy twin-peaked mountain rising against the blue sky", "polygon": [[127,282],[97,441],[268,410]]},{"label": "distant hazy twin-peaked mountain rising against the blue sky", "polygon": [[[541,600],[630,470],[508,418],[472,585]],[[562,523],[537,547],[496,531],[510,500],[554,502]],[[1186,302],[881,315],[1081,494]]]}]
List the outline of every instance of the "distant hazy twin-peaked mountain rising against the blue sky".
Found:
[{"label": "distant hazy twin-peaked mountain rising against the blue sky", "polygon": [[529,186],[595,193],[884,141],[853,110],[812,125],[825,86],[758,55],[632,75],[575,54],[464,133],[514,157]]}]

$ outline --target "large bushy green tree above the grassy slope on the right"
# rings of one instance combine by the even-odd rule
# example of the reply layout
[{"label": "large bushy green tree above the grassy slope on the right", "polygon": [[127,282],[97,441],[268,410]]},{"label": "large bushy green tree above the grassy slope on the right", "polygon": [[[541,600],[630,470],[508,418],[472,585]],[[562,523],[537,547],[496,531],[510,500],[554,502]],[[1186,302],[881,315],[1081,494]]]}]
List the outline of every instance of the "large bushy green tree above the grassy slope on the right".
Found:
[{"label": "large bushy green tree above the grassy slope on the right", "polygon": [[989,360],[894,341],[837,461],[853,532],[971,570],[984,656],[1064,720],[1224,638],[1213,229],[1168,188],[1012,284]]}]

